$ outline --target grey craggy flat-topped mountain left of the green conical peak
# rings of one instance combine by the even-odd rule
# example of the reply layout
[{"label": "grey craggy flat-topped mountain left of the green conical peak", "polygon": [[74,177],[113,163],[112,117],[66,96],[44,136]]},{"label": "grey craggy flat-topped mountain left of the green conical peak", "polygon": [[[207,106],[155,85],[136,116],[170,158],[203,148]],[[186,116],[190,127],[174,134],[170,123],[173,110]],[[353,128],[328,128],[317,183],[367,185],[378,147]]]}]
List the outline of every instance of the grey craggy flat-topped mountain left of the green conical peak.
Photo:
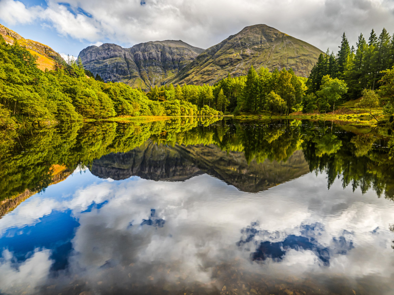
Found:
[{"label": "grey craggy flat-topped mountain left of the green conical peak", "polygon": [[85,69],[105,81],[124,82],[147,89],[178,74],[204,50],[183,41],[165,40],[122,48],[115,44],[89,46],[82,50]]}]

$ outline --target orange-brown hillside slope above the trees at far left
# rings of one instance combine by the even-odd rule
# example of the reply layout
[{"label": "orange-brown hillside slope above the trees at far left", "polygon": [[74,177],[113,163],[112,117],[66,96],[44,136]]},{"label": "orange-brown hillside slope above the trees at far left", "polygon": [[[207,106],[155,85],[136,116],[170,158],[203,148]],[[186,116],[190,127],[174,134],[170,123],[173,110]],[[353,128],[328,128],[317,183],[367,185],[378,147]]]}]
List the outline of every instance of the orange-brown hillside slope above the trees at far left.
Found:
[{"label": "orange-brown hillside slope above the trees at far left", "polygon": [[6,40],[6,43],[13,45],[16,41],[19,45],[26,47],[33,55],[37,56],[37,64],[40,70],[52,70],[56,58],[62,58],[60,54],[49,46],[41,44],[37,41],[25,39],[14,31],[0,24],[0,35]]}]

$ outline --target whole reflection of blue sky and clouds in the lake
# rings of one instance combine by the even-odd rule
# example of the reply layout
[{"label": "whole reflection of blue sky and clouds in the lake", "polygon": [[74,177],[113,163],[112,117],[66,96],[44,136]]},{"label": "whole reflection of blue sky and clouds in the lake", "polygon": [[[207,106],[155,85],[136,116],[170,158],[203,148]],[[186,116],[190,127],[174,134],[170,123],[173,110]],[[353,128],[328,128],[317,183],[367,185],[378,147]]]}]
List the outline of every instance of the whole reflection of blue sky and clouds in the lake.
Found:
[{"label": "whole reflection of blue sky and clouds in the lake", "polygon": [[324,174],[251,194],[207,174],[75,171],[1,219],[0,291],[388,295],[393,208],[372,190],[327,190]]}]

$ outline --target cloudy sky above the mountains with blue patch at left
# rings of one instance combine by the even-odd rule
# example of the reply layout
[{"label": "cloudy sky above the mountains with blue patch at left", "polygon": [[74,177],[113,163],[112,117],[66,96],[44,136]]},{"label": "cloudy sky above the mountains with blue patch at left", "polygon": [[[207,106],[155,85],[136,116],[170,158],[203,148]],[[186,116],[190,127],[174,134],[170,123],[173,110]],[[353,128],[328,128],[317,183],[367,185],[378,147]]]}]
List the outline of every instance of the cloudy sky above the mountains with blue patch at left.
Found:
[{"label": "cloudy sky above the mountains with blue patch at left", "polygon": [[336,52],[343,32],[354,46],[372,28],[394,33],[394,1],[0,0],[0,23],[74,56],[91,45],[166,39],[206,49],[256,24]]}]

